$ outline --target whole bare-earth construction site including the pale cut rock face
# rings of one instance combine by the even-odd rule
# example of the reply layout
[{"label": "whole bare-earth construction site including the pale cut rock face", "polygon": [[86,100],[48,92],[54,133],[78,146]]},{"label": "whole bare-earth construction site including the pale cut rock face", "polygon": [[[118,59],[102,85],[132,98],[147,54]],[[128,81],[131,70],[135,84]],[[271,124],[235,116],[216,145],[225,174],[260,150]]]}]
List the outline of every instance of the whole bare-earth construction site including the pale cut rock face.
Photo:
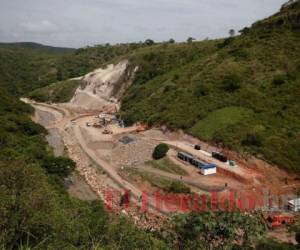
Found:
[{"label": "whole bare-earth construction site including the pale cut rock face", "polygon": [[[149,198],[145,213],[145,192],[150,197],[158,190],[162,195],[180,195],[174,186],[185,195],[213,193],[219,199],[238,199],[245,210],[279,210],[296,198],[300,188],[297,176],[255,157],[241,156],[165,127],[150,128],[143,123],[125,127],[118,110],[120,97],[131,82],[126,69],[124,61],[84,76],[85,87],[79,87],[69,103],[23,99],[35,108],[33,119],[48,129],[55,153],[67,154],[77,164],[76,174],[66,180],[71,195],[111,202],[114,212],[128,215],[145,228],[180,212],[157,207],[155,199]],[[161,143],[170,150],[165,158],[154,160],[153,150]],[[118,194],[108,201],[111,190]],[[124,208],[128,203],[124,194],[130,196],[130,208]],[[249,200],[255,204],[249,205]],[[193,204],[188,202],[187,206],[189,210]],[[292,223],[294,219],[283,221]]]}]

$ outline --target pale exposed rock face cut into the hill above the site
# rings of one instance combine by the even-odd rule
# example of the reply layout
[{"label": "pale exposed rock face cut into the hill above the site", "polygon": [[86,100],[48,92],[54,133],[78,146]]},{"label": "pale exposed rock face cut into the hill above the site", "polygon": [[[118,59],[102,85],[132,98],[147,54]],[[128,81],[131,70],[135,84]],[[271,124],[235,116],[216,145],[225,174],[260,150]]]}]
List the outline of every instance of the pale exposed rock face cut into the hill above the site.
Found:
[{"label": "pale exposed rock face cut into the hill above the site", "polygon": [[97,69],[82,77],[71,104],[88,110],[118,109],[120,98],[132,83],[133,74],[127,60]]}]

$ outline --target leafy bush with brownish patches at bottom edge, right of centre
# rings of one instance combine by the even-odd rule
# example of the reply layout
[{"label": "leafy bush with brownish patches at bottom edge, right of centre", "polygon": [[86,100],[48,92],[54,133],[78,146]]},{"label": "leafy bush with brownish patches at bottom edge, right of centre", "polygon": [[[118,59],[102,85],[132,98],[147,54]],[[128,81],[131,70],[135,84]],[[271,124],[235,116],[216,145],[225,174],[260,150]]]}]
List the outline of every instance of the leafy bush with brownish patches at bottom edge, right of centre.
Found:
[{"label": "leafy bush with brownish patches at bottom edge, right of centre", "polygon": [[245,249],[265,230],[259,214],[241,212],[192,212],[175,216],[173,223],[182,249]]}]

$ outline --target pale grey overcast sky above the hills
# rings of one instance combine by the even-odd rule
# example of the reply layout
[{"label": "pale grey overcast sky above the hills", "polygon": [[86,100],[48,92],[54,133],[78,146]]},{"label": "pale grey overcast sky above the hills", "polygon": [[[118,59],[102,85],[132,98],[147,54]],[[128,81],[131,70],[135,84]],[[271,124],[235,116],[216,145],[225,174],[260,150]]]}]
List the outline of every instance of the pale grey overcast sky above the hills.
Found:
[{"label": "pale grey overcast sky above the hills", "polygon": [[82,47],[217,38],[250,26],[287,0],[0,0],[0,41]]}]

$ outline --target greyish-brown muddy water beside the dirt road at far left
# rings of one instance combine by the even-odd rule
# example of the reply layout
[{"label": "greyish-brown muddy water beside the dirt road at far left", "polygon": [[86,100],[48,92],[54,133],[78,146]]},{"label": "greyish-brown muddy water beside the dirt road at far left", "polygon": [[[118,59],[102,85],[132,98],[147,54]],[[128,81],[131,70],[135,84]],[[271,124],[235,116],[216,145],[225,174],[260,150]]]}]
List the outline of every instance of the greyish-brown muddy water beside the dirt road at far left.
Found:
[{"label": "greyish-brown muddy water beside the dirt road at far left", "polygon": [[[36,107],[35,120],[43,127],[47,127],[55,123],[56,117],[53,114],[47,111],[40,110]],[[65,145],[59,133],[59,130],[49,129],[48,133],[49,134],[47,135],[46,139],[49,145],[53,148],[54,155],[63,156],[65,151]]]}]

